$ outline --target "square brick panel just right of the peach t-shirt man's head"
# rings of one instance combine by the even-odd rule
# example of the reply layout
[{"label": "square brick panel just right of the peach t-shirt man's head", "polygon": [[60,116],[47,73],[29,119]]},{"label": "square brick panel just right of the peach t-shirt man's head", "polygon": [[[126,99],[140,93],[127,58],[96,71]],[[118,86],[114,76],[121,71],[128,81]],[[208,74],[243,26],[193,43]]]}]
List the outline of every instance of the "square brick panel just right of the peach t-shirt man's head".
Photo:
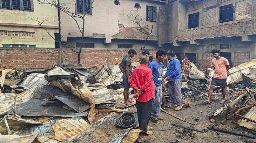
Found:
[{"label": "square brick panel just right of the peach t-shirt man's head", "polygon": [[234,52],[233,67],[247,62],[250,59],[250,52]]}]

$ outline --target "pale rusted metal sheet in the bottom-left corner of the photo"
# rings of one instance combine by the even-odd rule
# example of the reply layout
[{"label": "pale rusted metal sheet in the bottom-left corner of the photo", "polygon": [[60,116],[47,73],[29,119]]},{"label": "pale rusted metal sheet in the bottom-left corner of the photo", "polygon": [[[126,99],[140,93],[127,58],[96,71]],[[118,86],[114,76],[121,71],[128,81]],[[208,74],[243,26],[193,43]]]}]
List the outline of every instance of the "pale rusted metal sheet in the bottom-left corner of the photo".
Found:
[{"label": "pale rusted metal sheet in the bottom-left corner of the photo", "polygon": [[5,136],[0,134],[1,143],[32,143],[37,135],[28,135],[28,136]]}]

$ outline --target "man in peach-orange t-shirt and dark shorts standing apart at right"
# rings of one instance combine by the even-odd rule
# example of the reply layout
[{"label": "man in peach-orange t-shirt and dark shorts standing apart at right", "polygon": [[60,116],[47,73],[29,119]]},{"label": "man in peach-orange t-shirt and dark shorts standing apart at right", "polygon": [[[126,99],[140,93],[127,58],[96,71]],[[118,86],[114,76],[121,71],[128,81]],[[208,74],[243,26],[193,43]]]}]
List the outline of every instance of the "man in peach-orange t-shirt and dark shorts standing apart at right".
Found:
[{"label": "man in peach-orange t-shirt and dark shorts standing apart at right", "polygon": [[211,78],[211,86],[208,94],[208,100],[203,101],[204,103],[210,104],[211,95],[213,94],[213,89],[216,86],[222,88],[222,100],[221,103],[225,101],[226,87],[227,87],[227,71],[230,69],[228,60],[220,56],[220,50],[211,51],[214,59],[211,60],[211,67],[214,68],[214,74]]}]

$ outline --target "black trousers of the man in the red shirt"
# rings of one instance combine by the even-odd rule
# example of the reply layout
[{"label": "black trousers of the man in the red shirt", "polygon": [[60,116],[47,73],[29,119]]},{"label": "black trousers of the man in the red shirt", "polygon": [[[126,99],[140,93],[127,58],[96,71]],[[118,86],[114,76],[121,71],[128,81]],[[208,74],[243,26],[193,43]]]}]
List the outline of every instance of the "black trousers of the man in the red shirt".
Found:
[{"label": "black trousers of the man in the red shirt", "polygon": [[136,100],[139,126],[145,133],[147,132],[147,126],[152,112],[152,101],[153,99],[150,99],[147,102],[140,102]]}]

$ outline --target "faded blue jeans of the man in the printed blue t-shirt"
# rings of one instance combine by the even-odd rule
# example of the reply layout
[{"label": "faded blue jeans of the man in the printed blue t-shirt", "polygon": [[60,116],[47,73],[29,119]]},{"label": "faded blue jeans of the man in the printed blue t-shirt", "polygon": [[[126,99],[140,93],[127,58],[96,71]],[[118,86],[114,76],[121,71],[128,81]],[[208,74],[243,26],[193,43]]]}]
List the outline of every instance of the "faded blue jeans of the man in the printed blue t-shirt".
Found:
[{"label": "faded blue jeans of the man in the printed blue t-shirt", "polygon": [[158,92],[155,93],[155,99],[153,100],[153,103],[152,103],[152,115],[158,117],[160,116],[160,108],[161,108],[161,105],[162,105],[162,85],[160,86],[156,86]]}]

